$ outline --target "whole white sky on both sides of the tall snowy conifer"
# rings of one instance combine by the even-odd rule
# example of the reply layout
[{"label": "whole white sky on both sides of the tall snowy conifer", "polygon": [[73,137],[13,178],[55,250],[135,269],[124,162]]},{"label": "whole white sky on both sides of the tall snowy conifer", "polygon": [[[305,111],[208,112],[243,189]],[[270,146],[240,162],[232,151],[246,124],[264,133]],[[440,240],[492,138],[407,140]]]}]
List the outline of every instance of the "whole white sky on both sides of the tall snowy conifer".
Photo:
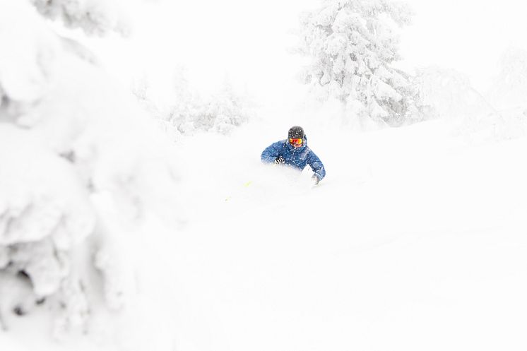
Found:
[{"label": "whole white sky on both sides of the tall snowy conifer", "polygon": [[[403,30],[406,69],[438,65],[466,73],[485,90],[497,61],[511,45],[527,48],[525,1],[410,0],[413,25]],[[135,13],[131,40],[93,40],[109,71],[146,74],[159,93],[184,66],[196,88],[212,93],[225,81],[267,103],[292,95],[300,58],[288,53],[290,30],[316,0],[151,1]]]}]

